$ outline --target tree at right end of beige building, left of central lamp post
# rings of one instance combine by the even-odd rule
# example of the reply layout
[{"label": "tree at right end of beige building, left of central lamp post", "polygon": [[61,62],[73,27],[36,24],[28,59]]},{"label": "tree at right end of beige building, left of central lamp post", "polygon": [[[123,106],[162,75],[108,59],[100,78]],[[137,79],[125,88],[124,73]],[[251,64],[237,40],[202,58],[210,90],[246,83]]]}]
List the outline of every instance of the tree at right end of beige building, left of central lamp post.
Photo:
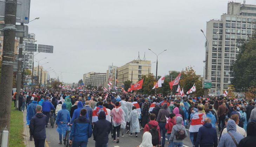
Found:
[{"label": "tree at right end of beige building, left of central lamp post", "polygon": [[153,90],[152,88],[154,86],[155,77],[150,73],[150,75],[142,75],[141,79],[143,78],[144,80],[143,80],[142,89],[138,91],[141,92],[142,94],[154,94],[155,90]]}]

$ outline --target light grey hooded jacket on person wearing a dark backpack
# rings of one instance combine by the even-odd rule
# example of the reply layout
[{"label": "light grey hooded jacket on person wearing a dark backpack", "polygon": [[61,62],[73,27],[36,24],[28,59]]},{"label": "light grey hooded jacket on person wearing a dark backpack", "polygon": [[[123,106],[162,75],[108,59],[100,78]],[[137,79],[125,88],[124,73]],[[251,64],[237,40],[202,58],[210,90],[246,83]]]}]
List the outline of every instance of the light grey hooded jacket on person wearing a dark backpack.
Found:
[{"label": "light grey hooded jacket on person wearing a dark backpack", "polygon": [[171,130],[171,136],[169,138],[169,143],[172,143],[172,142],[183,142],[183,139],[182,140],[177,140],[176,139],[176,134],[178,133],[178,130],[179,129],[182,129],[185,131],[185,138],[188,136],[187,134],[187,131],[186,131],[186,128],[182,125],[182,117],[176,117],[176,125],[173,126],[173,130]]}]

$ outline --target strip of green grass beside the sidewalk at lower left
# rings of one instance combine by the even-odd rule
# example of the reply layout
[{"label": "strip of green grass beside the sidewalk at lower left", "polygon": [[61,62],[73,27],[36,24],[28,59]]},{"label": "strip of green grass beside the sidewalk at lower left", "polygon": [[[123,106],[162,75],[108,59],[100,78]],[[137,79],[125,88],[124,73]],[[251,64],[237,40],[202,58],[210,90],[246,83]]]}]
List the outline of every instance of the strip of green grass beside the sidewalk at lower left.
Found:
[{"label": "strip of green grass beside the sidewalk at lower left", "polygon": [[15,110],[12,102],[9,147],[25,147],[23,140],[23,112]]}]

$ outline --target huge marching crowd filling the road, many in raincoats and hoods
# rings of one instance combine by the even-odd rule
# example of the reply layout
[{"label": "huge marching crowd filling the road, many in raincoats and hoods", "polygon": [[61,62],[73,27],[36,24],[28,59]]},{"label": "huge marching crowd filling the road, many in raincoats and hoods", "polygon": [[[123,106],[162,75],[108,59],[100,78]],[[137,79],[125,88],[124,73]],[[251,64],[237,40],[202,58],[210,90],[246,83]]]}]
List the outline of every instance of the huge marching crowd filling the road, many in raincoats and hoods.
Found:
[{"label": "huge marching crowd filling the road, many in raincoats and hoods", "polygon": [[69,143],[73,147],[86,147],[92,135],[95,147],[107,147],[110,133],[112,141],[119,143],[120,134],[137,137],[140,131],[139,147],[182,147],[188,137],[186,128],[193,147],[256,146],[255,98],[34,90],[19,95],[19,110],[25,112],[25,107],[30,140],[34,139],[36,147],[44,146],[51,110],[55,111],[59,144],[72,124]]}]

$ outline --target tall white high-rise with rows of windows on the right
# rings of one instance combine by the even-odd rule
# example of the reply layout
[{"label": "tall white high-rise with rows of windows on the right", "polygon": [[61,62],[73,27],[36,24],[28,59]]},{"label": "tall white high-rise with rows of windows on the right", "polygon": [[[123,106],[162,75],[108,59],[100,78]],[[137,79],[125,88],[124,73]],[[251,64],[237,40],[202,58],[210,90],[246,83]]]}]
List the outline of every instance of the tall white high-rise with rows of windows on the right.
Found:
[{"label": "tall white high-rise with rows of windows on the right", "polygon": [[[256,5],[228,3],[227,14],[220,20],[207,22],[206,37],[209,41],[207,79],[212,80],[210,94],[223,94],[233,77],[229,68],[240,52],[239,41],[247,40],[256,29]],[[207,47],[207,43],[206,43]],[[206,76],[206,72],[204,73]]]}]

